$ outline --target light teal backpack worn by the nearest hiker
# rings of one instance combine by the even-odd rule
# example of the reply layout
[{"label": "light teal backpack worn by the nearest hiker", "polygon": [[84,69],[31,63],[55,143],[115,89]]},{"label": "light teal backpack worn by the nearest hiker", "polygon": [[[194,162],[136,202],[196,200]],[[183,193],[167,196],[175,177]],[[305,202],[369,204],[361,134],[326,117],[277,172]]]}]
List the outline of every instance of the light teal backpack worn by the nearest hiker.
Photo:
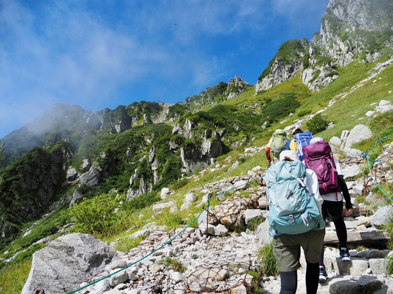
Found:
[{"label": "light teal backpack worn by the nearest hiker", "polygon": [[268,168],[263,180],[268,187],[270,236],[325,228],[318,204],[306,185],[306,167],[301,161],[279,161]]}]

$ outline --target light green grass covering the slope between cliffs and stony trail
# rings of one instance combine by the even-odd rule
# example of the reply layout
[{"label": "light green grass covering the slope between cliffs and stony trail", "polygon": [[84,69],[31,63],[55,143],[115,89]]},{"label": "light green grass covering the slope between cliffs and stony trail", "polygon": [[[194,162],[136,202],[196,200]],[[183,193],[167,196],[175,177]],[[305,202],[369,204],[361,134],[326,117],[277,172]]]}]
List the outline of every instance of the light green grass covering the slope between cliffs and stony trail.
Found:
[{"label": "light green grass covering the slope between cliffs and stony trail", "polygon": [[[386,58],[387,57],[385,57],[385,60]],[[235,107],[237,109],[236,111],[224,111],[224,113],[233,115],[233,120],[238,121],[239,124],[242,125],[244,133],[239,134],[239,138],[247,133],[249,137],[255,137],[256,139],[254,141],[249,140],[247,144],[239,148],[235,148],[217,159],[217,163],[221,165],[231,164],[229,162],[239,160],[241,162],[239,167],[233,171],[227,172],[226,168],[211,173],[205,173],[203,175],[198,174],[198,178],[195,181],[186,180],[182,183],[182,185],[170,186],[176,191],[172,198],[176,202],[177,207],[180,208],[183,203],[182,200],[184,195],[194,188],[207,183],[216,182],[222,178],[229,178],[239,174],[244,174],[247,170],[252,169],[256,165],[260,165],[262,167],[266,166],[266,159],[263,152],[258,153],[253,157],[242,158],[241,153],[244,148],[246,146],[260,146],[266,144],[275,129],[282,129],[293,124],[294,120],[307,114],[313,114],[326,107],[331,99],[339,94],[349,92],[352,86],[358,84],[361,80],[364,80],[368,76],[369,71],[374,68],[376,63],[377,62],[358,63],[355,61],[343,68],[339,68],[339,79],[331,83],[327,88],[321,90],[319,93],[311,93],[308,88],[301,83],[300,76],[297,75],[293,79],[282,82],[280,85],[277,85],[267,91],[263,91],[256,96],[254,95],[254,87],[251,87],[248,91],[242,93],[236,99],[223,102],[220,107],[225,108],[210,106],[203,108],[204,112],[211,115],[208,116],[208,118],[217,118],[217,109],[225,109],[225,111],[229,111],[232,107]],[[390,90],[393,90],[393,66],[388,67],[375,78],[366,81],[363,86],[353,90],[350,94],[346,95],[345,98],[337,99],[337,102],[333,106],[323,112],[323,117],[329,122],[333,122],[335,125],[332,128],[315,135],[321,135],[325,139],[329,140],[332,136],[339,137],[343,130],[351,130],[357,124],[365,124],[371,128],[374,137],[362,142],[362,144],[359,144],[356,147],[362,150],[370,150],[377,136],[393,134],[392,114],[387,113],[380,115],[377,118],[365,118],[365,112],[375,107],[370,106],[370,104],[379,103],[380,100],[393,101],[393,94],[389,94]],[[293,111],[291,111],[293,113],[291,116],[288,115],[289,113],[281,112],[281,109],[279,109],[280,107],[276,107],[277,105],[274,104],[278,101],[284,101],[285,99],[288,99],[288,97],[298,103]],[[264,113],[266,107],[270,107],[269,109],[274,112],[274,119],[271,120],[266,129],[262,129],[261,125],[264,123],[264,119],[267,119],[266,113]],[[236,115],[240,114],[247,114],[248,116],[245,118],[248,121],[244,121],[243,117],[236,117]],[[195,116],[195,113],[192,115]],[[192,118],[192,116],[190,118]],[[252,122],[252,124],[248,125],[250,122]],[[306,126],[302,126],[302,128],[303,127],[306,128]],[[167,129],[165,127],[162,128]],[[233,133],[235,133],[235,131],[233,131]],[[119,140],[126,135],[127,134],[118,136]],[[109,144],[109,142],[102,143],[104,145]],[[111,146],[113,144],[120,143],[112,140]],[[122,144],[120,145],[123,146]],[[157,143],[157,146],[160,145]],[[378,152],[381,151],[382,150],[379,150]],[[125,178],[129,178],[129,175],[127,174]],[[110,184],[111,182],[108,182],[105,185]],[[116,184],[116,182],[113,182],[113,184]],[[120,192],[124,194],[125,187],[121,189]],[[157,199],[155,198],[157,194],[151,196],[152,201]],[[243,196],[247,197],[247,195]],[[201,200],[202,195],[198,194],[197,197],[198,200]],[[218,201],[216,199],[212,199],[211,204],[214,206],[216,203],[218,203]],[[121,219],[115,225],[102,232],[96,232],[94,235],[103,241],[111,242],[140,230],[143,225],[151,222],[152,206],[150,203],[146,203],[146,205],[147,206],[145,208],[132,205],[128,206],[128,208],[124,209],[121,214]],[[157,224],[167,225],[168,230],[170,230],[173,227],[180,227],[181,225],[189,223],[193,219],[193,216],[199,211],[200,208],[193,207],[177,214],[162,214],[157,216],[155,221]],[[143,216],[140,217],[140,215]],[[63,215],[60,214],[60,209],[55,211],[55,213],[47,216],[34,227],[30,234],[31,236],[28,235],[27,237],[20,238],[14,243],[2,248],[0,251],[0,258],[9,258],[15,252],[28,248],[34,241],[45,237],[42,235],[42,232],[46,232],[46,230],[48,230],[48,234],[52,234],[56,227],[61,226],[64,222],[65,220]],[[129,230],[131,227],[132,229]],[[117,249],[126,251],[136,244],[137,241],[119,242]],[[26,281],[28,276],[31,254],[34,250],[38,249],[39,248],[37,247],[32,247],[30,251],[28,251],[29,254],[25,254],[24,256],[21,256],[19,260],[0,268],[0,293],[4,293],[4,289],[7,289],[7,293],[20,293],[22,289],[21,287],[23,287],[24,281]]]}]

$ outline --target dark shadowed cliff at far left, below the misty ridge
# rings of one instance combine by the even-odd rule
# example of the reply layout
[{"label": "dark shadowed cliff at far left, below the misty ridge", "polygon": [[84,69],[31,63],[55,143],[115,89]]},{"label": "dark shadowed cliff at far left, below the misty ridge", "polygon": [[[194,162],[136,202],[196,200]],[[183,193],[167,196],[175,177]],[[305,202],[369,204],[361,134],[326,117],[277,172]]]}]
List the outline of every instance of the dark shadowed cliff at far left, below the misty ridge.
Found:
[{"label": "dark shadowed cliff at far left, below the misty ridge", "polygon": [[16,164],[3,174],[0,209],[1,215],[8,217],[0,221],[2,238],[7,239],[16,232],[15,226],[7,221],[23,223],[48,212],[56,188],[65,179],[63,164],[69,154],[69,148],[53,153],[36,148],[28,154],[30,160]]}]

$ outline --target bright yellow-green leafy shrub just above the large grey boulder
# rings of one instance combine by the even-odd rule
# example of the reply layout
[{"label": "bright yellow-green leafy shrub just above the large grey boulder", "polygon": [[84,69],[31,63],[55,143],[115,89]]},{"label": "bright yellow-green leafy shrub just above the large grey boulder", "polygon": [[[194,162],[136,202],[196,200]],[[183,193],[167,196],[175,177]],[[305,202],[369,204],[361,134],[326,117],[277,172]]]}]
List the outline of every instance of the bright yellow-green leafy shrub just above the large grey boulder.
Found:
[{"label": "bright yellow-green leafy shrub just above the large grey boulder", "polygon": [[101,194],[93,199],[84,198],[68,210],[69,217],[75,218],[72,231],[86,234],[109,231],[119,219],[115,210],[119,208],[122,199],[123,197],[116,198],[115,192]]}]

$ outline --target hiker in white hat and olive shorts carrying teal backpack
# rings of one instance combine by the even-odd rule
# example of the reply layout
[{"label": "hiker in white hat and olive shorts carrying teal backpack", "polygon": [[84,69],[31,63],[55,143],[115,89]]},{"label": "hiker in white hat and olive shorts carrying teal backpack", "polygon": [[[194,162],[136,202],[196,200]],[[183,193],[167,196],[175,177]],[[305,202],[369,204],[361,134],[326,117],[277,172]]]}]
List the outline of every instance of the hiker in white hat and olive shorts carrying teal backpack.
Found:
[{"label": "hiker in white hat and olive shorts carrying teal backpack", "polygon": [[307,294],[316,294],[318,262],[325,237],[317,176],[306,168],[296,152],[285,150],[280,161],[267,169],[263,180],[268,188],[269,235],[273,237],[273,253],[280,271],[280,294],[296,293],[300,247],[307,263]]}]

